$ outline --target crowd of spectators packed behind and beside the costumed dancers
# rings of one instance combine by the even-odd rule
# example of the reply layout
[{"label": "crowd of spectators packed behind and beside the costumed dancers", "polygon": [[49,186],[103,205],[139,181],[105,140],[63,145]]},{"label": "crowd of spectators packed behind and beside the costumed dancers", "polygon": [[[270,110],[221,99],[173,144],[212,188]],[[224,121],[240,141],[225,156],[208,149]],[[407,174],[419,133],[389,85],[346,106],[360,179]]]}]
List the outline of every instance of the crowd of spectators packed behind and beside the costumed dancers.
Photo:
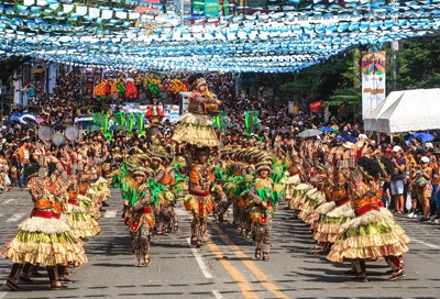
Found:
[{"label": "crowd of spectators packed behind and beside the costumed dancers", "polygon": [[[41,125],[51,126],[54,131],[63,131],[66,126],[73,125],[75,118],[79,114],[94,112],[110,114],[110,107],[122,102],[121,99],[111,97],[105,101],[84,97],[81,76],[80,71],[62,70],[51,95],[44,93],[38,82],[30,82],[23,87],[22,107],[11,109],[9,117],[3,118],[0,128],[0,174],[8,174],[10,180],[9,187],[0,184],[0,189],[9,190],[14,185],[24,187],[21,174],[29,164],[32,143],[37,141],[37,130]],[[393,159],[394,174],[383,188],[384,203],[395,213],[408,213],[408,217],[422,214],[422,221],[429,221],[430,218],[439,221],[437,219],[440,215],[440,209],[436,207],[440,207],[440,202],[437,203],[440,170],[438,163],[440,151],[437,144],[440,139],[437,131],[430,132],[435,136],[430,143],[417,137],[410,139],[409,133],[392,136],[369,135],[362,130],[361,123],[350,122],[338,114],[324,121],[321,114],[301,111],[289,113],[287,106],[277,107],[265,97],[265,87],[256,89],[256,95],[237,92],[237,78],[231,74],[211,73],[205,76],[210,90],[223,102],[222,109],[228,115],[227,125],[217,129],[221,146],[241,145],[250,137],[255,137],[263,141],[266,148],[278,146],[288,154],[300,142],[298,134],[307,129],[324,130],[318,139],[341,137],[343,141],[356,142],[362,137],[372,153]],[[146,98],[144,101],[150,103],[152,99]],[[167,101],[178,103],[179,98],[170,95]],[[258,111],[258,121],[252,128],[252,132],[246,131],[244,121],[246,111]],[[18,112],[33,113],[40,121],[38,123],[12,121],[10,117]],[[170,136],[175,125],[169,122],[160,125],[160,141],[168,151],[174,151]],[[139,135],[136,131],[131,134],[124,134],[122,131],[111,131],[111,133],[112,139],[108,140],[102,134],[102,130],[91,132],[82,137],[81,143],[90,145],[91,150],[97,143],[100,143],[101,147],[106,146],[113,163],[116,163],[116,156],[129,154],[134,151],[133,148],[148,148],[150,140]],[[426,186],[428,187],[415,188],[415,181],[421,173],[427,174],[429,184]]]}]

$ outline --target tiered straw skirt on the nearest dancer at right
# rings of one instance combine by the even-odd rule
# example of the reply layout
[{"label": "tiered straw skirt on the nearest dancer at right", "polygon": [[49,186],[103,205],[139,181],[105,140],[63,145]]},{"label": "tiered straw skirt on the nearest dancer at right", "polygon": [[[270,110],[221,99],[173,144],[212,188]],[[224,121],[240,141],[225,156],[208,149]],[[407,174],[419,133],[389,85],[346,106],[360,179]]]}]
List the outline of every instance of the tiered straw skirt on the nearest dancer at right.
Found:
[{"label": "tiered straw skirt on the nearest dancer at right", "polygon": [[[341,225],[340,236],[327,258],[332,262],[378,259],[408,251],[409,239],[396,228],[393,219],[371,210]],[[397,225],[398,226],[398,225]]]}]

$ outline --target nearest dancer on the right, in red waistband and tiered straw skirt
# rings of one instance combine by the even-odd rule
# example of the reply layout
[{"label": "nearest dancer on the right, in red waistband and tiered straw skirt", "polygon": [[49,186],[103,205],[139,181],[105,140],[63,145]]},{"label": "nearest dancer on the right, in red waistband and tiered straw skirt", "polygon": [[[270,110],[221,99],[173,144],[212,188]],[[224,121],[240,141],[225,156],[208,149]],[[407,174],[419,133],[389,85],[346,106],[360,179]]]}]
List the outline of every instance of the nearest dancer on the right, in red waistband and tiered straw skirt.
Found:
[{"label": "nearest dancer on the right, in red waistband and tiered straw skirt", "polygon": [[344,171],[355,218],[340,228],[340,236],[327,258],[341,263],[350,261],[354,265],[353,279],[369,281],[365,261],[387,257],[396,267],[389,280],[405,276],[402,255],[408,251],[409,239],[396,230],[396,223],[380,212],[377,207],[381,166],[376,159],[361,157],[358,165]]}]

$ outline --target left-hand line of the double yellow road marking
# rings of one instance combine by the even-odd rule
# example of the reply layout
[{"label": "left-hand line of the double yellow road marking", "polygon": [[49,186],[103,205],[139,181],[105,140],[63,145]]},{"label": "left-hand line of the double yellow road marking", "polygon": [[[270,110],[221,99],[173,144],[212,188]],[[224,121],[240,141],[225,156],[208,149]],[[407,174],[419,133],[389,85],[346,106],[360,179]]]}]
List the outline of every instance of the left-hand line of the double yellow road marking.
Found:
[{"label": "left-hand line of the double yellow road marking", "polygon": [[217,259],[220,262],[220,264],[223,266],[223,268],[229,273],[229,275],[232,277],[232,279],[234,279],[238,283],[238,285],[241,289],[241,292],[243,294],[243,297],[244,298],[258,298],[256,292],[248,284],[246,278],[244,278],[244,276],[235,267],[233,267],[232,264],[228,259],[224,259],[223,253],[221,252],[219,246],[217,246],[217,244],[211,241],[209,235],[205,235],[205,237],[207,240],[206,245],[209,247],[211,253],[213,255],[216,255]]}]

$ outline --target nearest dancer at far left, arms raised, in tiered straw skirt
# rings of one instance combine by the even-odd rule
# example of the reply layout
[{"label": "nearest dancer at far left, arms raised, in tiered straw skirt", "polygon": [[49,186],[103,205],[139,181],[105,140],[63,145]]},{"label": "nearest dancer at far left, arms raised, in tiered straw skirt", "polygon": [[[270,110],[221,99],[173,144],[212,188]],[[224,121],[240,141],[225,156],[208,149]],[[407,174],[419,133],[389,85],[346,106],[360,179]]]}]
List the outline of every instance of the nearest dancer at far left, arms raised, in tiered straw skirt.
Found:
[{"label": "nearest dancer at far left, arms raised, in tiered straw skirt", "polygon": [[46,154],[43,145],[35,146],[33,158],[37,163],[30,165],[24,174],[34,209],[19,225],[19,233],[1,251],[1,256],[14,263],[7,280],[12,290],[20,290],[16,278],[24,264],[46,265],[51,289],[64,289],[66,286],[61,280],[66,266],[87,262],[81,243],[61,220],[61,196],[67,188],[67,174],[55,156]]}]

